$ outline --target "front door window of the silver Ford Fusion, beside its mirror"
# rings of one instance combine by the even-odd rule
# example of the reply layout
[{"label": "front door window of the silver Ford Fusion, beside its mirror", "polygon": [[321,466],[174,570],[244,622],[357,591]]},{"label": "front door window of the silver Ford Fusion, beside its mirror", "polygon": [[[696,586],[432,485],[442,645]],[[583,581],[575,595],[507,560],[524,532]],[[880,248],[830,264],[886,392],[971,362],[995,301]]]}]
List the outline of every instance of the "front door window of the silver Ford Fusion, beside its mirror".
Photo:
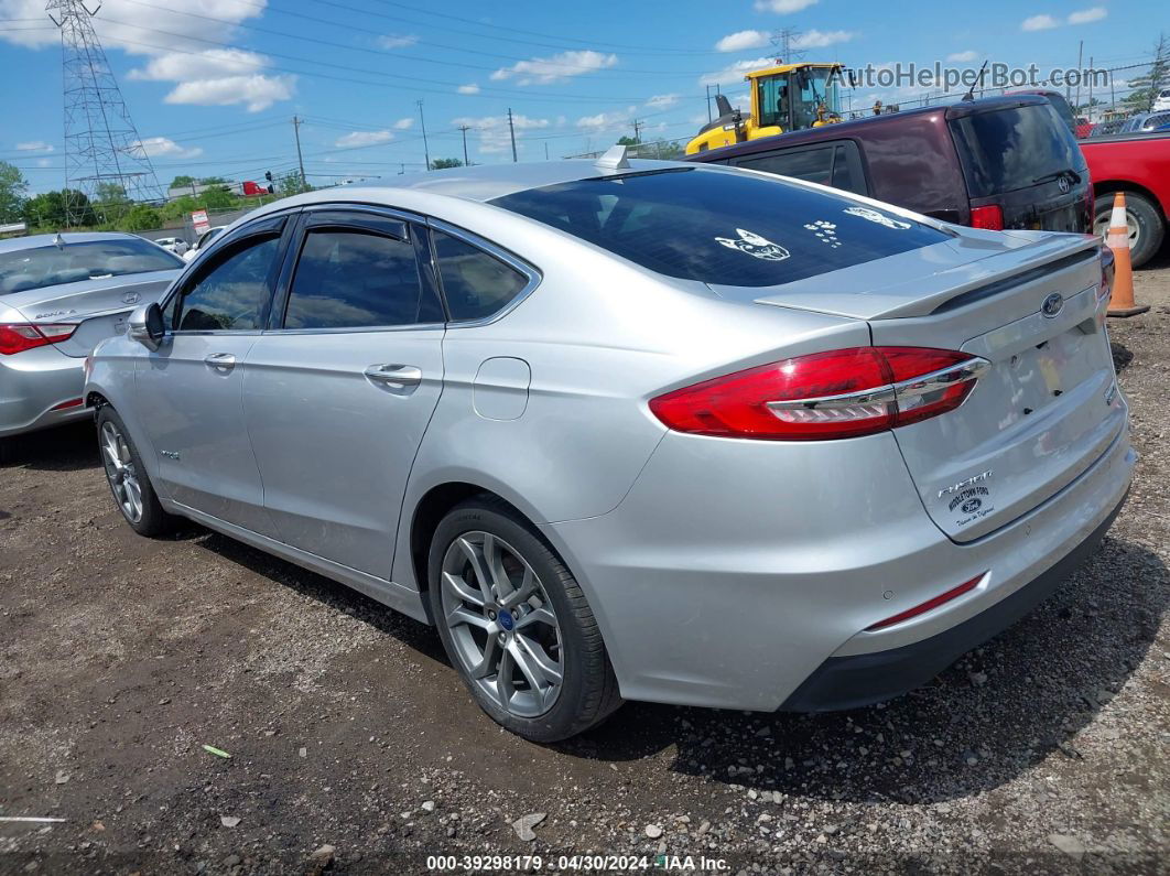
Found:
[{"label": "front door window of the silver Ford Fusion, beside its mirror", "polygon": [[249,331],[264,327],[271,288],[268,283],[280,237],[260,237],[197,280],[174,302],[177,331]]}]

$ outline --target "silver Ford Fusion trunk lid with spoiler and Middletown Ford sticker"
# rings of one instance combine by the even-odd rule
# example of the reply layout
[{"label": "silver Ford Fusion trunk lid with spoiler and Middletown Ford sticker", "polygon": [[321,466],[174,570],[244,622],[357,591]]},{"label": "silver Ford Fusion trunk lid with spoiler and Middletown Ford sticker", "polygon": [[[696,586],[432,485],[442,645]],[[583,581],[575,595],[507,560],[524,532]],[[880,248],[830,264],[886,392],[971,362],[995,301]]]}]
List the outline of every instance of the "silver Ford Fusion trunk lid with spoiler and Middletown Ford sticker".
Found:
[{"label": "silver Ford Fusion trunk lid with spoiler and Middletown Ford sticker", "polygon": [[715,291],[865,319],[876,346],[989,360],[962,407],[893,433],[935,524],[970,542],[1069,484],[1122,430],[1100,283],[1094,239],[964,232],[789,288]]}]

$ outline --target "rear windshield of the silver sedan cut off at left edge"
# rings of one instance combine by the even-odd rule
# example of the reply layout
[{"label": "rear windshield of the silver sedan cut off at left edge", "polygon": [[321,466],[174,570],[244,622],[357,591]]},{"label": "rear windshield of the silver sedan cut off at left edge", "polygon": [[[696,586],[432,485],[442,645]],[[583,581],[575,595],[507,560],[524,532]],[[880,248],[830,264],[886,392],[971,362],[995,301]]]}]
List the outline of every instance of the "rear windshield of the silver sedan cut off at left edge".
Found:
[{"label": "rear windshield of the silver sedan cut off at left edge", "polygon": [[0,253],[0,295],[184,264],[150,241],[130,237],[16,249]]}]

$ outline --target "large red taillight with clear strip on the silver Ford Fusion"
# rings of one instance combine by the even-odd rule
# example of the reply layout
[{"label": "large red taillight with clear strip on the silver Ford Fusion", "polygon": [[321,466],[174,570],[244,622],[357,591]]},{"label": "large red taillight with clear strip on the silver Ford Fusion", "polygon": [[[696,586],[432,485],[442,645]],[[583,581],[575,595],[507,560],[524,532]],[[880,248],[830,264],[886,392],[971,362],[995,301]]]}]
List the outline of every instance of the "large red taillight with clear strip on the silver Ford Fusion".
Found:
[{"label": "large red taillight with clear strip on the silver Ford Fusion", "polygon": [[659,395],[676,432],[769,441],[872,435],[954,411],[991,363],[929,347],[812,353]]}]

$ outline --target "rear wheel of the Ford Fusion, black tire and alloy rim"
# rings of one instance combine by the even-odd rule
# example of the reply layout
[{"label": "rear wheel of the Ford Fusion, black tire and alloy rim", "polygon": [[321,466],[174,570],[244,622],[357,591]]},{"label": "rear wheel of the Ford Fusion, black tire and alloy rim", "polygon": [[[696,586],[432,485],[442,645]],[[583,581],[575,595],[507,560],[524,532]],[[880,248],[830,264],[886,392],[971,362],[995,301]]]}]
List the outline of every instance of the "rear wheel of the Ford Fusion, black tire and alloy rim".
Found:
[{"label": "rear wheel of the Ford Fusion, black tire and alloy rim", "polygon": [[[484,572],[486,588],[477,586],[476,570]],[[427,571],[447,656],[497,724],[525,739],[553,743],[599,724],[621,705],[580,586],[505,502],[481,496],[452,509],[435,527]]]}]

